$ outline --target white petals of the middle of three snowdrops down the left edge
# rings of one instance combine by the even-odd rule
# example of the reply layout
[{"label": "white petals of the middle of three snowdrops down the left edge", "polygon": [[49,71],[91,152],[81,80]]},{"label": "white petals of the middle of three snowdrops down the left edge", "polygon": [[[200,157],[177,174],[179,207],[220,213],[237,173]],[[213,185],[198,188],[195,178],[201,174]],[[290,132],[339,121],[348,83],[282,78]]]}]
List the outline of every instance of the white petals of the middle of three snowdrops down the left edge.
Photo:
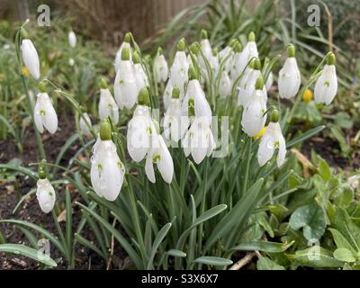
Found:
[{"label": "white petals of the middle of three snowdrops down the left edge", "polygon": [[58,129],[58,115],[49,98],[49,94],[45,92],[38,93],[34,107],[34,121],[36,128],[42,133],[45,129],[54,134]]}]

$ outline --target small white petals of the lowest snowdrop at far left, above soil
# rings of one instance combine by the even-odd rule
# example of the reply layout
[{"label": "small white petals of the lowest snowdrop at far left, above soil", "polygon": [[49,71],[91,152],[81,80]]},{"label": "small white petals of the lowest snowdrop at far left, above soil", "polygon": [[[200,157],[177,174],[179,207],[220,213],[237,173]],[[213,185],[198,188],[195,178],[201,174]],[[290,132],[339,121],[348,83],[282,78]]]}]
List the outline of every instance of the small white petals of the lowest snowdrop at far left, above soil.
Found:
[{"label": "small white petals of the lowest snowdrop at far left, above soil", "polygon": [[40,178],[36,185],[36,198],[38,199],[41,211],[49,213],[49,211],[52,211],[54,208],[56,201],[54,187],[46,177],[42,179]]}]

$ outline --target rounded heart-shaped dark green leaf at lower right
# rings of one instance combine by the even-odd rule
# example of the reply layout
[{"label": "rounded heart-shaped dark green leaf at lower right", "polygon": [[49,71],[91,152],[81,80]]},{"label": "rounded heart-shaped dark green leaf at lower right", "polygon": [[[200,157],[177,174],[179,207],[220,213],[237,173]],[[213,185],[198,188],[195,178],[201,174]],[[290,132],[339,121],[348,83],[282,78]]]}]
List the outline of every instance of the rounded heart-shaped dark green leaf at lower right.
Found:
[{"label": "rounded heart-shaped dark green leaf at lower right", "polygon": [[308,239],[320,239],[326,229],[324,211],[317,203],[304,205],[296,209],[290,217],[290,227],[301,229],[303,236]]}]

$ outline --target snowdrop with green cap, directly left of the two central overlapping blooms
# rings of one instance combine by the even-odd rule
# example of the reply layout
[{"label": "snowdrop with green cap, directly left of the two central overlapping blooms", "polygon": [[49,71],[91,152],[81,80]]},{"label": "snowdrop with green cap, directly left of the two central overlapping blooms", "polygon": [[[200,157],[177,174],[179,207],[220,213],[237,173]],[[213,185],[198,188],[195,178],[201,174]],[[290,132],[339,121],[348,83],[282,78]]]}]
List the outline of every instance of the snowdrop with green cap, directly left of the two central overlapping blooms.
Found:
[{"label": "snowdrop with green cap, directly left of the two central overlapping blooms", "polygon": [[189,126],[188,118],[182,116],[182,101],[177,87],[173,89],[172,98],[164,115],[163,126],[164,137],[176,143],[184,137],[184,133]]}]

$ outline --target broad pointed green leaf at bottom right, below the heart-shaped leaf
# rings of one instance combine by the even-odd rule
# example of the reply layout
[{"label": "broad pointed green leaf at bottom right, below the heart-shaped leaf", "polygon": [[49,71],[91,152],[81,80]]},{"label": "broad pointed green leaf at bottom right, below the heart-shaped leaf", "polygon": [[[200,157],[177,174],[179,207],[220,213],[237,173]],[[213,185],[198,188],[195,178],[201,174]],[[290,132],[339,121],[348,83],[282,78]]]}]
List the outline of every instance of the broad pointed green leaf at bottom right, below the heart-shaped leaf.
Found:
[{"label": "broad pointed green leaf at bottom right, below the heart-shaped leaf", "polygon": [[337,268],[344,265],[343,262],[334,258],[329,250],[319,246],[296,251],[294,255],[288,255],[288,257],[301,266],[314,268]]}]

